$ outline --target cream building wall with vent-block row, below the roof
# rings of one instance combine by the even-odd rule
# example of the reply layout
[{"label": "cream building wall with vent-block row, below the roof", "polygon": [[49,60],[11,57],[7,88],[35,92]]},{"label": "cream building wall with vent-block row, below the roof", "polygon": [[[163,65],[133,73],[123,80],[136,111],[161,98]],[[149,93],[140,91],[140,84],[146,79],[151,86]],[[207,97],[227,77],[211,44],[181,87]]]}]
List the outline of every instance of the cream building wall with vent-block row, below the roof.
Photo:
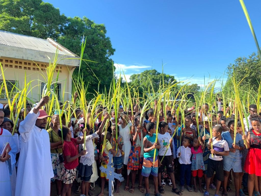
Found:
[{"label": "cream building wall with vent-block row, below the roof", "polygon": [[[5,80],[15,80],[18,81],[17,87],[22,89],[25,81],[25,74],[27,83],[31,80],[31,88],[29,88],[28,98],[33,100],[34,102],[39,101],[41,98],[41,83],[46,83],[46,71],[45,68],[49,66],[49,64],[45,62],[38,61],[30,61],[23,59],[15,59],[8,57],[0,57],[0,62],[3,66]],[[53,76],[53,82],[56,81],[57,74],[59,72],[58,83],[61,84],[61,101],[66,101],[71,99],[71,91],[72,91],[72,74],[75,67],[65,66],[65,65],[57,65],[55,69],[55,73]],[[1,73],[1,72],[0,72]],[[43,77],[43,75],[45,77]],[[3,76],[1,74],[0,80],[3,80]],[[64,92],[63,92],[64,91]],[[70,92],[70,93],[68,93]],[[64,97],[63,97],[64,94]],[[30,101],[29,101],[30,102]],[[0,100],[0,103],[7,103],[7,100]]]}]

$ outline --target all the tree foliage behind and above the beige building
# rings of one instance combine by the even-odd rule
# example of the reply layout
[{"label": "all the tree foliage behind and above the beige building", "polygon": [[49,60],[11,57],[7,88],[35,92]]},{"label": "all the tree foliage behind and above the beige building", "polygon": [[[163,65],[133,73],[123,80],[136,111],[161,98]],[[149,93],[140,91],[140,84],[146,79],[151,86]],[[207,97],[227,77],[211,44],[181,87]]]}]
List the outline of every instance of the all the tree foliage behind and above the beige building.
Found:
[{"label": "all the tree foliage behind and above the beige building", "polygon": [[[110,38],[106,36],[104,24],[83,17],[66,17],[58,8],[42,0],[0,0],[0,30],[56,40],[73,53],[80,56],[83,37],[86,47],[83,59],[97,63],[82,62],[81,75],[86,85],[103,91],[110,87],[115,52]],[[78,76],[78,69],[73,77]]]}]

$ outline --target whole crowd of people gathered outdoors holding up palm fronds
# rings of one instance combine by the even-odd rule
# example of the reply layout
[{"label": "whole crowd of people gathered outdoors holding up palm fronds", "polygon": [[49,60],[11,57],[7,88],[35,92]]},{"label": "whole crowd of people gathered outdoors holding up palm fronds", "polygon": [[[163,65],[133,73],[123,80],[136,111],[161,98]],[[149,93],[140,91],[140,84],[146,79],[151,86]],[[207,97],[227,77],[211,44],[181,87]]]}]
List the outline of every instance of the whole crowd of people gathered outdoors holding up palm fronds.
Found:
[{"label": "whole crowd of people gathered outdoors holding up palm fronds", "polygon": [[[236,196],[260,195],[261,121],[256,105],[249,106],[244,125],[229,107],[223,109],[221,100],[218,108],[204,103],[182,111],[163,104],[157,111],[155,101],[142,116],[138,103],[127,111],[100,105],[93,126],[90,113],[85,116],[80,109],[69,122],[62,110],[48,116],[41,109],[48,101],[45,96],[34,107],[28,103],[16,115],[14,135],[10,113],[15,115],[15,108],[10,111],[7,104],[0,109],[0,149],[6,142],[11,147],[0,158],[1,195],[52,195],[55,184],[57,196],[70,196],[74,183],[76,193],[93,196],[93,183],[99,182],[98,196],[103,196],[107,175],[99,167],[107,168],[109,153],[115,172],[126,180],[124,191],[130,193],[138,184],[145,196],[161,196],[167,185],[177,195],[194,191],[209,196],[211,188],[215,196],[227,196],[233,180]],[[121,183],[115,179],[116,194],[123,191]]]}]

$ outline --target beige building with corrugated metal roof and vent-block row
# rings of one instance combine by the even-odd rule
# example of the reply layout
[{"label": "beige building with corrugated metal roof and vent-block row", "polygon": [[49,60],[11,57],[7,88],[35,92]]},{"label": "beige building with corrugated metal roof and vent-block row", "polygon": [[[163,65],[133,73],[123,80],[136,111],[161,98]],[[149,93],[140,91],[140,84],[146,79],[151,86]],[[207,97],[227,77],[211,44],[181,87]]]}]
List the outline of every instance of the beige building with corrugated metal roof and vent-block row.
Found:
[{"label": "beige building with corrugated metal roof and vent-block row", "polygon": [[[57,95],[59,100],[66,101],[70,100],[72,96],[70,94],[72,92],[72,74],[74,69],[79,67],[79,56],[51,38],[40,39],[0,30],[0,62],[9,89],[13,87],[13,84],[22,89],[26,74],[27,83],[32,81],[28,99],[32,102],[39,101],[46,83],[45,68],[49,66],[49,58],[51,61],[54,59],[56,51],[58,51],[58,63],[53,82],[56,81],[59,73]],[[1,72],[0,74],[1,85],[3,76]],[[7,103],[4,88],[0,95],[0,103]]]}]

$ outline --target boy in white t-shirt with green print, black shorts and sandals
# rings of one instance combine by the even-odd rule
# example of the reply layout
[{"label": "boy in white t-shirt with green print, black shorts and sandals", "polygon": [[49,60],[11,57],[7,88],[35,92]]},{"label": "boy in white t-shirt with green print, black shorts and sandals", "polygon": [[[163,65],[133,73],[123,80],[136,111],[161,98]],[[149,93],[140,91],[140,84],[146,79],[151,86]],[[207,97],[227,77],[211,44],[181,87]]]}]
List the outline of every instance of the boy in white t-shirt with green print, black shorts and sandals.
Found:
[{"label": "boy in white t-shirt with green print, black shorts and sandals", "polygon": [[[164,166],[167,168],[167,172],[169,172],[170,179],[172,181],[172,192],[178,195],[182,195],[182,193],[176,188],[175,184],[175,176],[174,169],[172,164],[172,154],[170,147],[172,148],[172,138],[168,131],[168,124],[164,121],[159,122],[159,134],[158,141],[161,147],[158,150],[158,160],[159,160],[159,169],[158,169],[158,184],[159,184],[159,192],[164,193],[164,189],[161,185],[161,172],[164,169]],[[165,156],[164,156],[165,155]],[[160,163],[160,161],[162,162]]]}]

